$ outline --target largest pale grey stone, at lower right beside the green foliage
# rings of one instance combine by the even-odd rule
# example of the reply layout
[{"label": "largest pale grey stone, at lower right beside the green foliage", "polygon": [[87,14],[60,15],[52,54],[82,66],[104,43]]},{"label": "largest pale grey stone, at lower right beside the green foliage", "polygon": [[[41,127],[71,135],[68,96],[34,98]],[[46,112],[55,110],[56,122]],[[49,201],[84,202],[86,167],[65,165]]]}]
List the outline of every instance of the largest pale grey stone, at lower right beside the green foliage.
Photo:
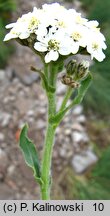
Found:
[{"label": "largest pale grey stone, at lower right beside the green foliage", "polygon": [[96,163],[98,160],[97,156],[90,149],[82,152],[81,154],[74,155],[72,159],[72,167],[76,173],[83,173],[91,165]]}]

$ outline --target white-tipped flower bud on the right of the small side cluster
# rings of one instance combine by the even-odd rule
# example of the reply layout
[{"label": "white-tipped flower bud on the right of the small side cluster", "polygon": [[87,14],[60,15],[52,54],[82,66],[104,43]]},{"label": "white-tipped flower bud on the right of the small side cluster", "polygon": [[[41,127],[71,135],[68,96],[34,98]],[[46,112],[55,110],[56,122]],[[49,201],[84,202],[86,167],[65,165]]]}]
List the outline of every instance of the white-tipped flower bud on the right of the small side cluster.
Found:
[{"label": "white-tipped flower bud on the right of the small side cluster", "polygon": [[83,79],[87,76],[89,71],[89,62],[88,61],[82,61],[77,66],[77,79]]}]

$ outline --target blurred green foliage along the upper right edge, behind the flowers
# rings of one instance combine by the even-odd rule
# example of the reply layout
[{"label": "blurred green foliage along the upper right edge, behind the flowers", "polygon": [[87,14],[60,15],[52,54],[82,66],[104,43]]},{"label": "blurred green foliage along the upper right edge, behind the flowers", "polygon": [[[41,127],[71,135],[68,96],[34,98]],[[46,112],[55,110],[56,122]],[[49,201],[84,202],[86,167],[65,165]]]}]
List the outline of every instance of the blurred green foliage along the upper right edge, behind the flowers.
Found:
[{"label": "blurred green foliage along the upper right edge, behind the flowers", "polygon": [[97,61],[91,67],[93,84],[86,98],[85,106],[95,109],[98,113],[108,114],[110,106],[110,0],[80,0],[88,18],[98,20],[101,31],[106,37],[106,59],[102,63]]}]

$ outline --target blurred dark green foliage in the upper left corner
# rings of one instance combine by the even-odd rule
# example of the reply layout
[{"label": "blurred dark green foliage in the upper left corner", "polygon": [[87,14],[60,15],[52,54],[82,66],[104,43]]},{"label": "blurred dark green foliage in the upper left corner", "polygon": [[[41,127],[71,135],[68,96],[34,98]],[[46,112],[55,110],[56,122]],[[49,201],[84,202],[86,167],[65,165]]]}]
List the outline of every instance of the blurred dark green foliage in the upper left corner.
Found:
[{"label": "blurred dark green foliage in the upper left corner", "polygon": [[10,23],[11,13],[16,9],[14,0],[0,0],[0,68],[5,67],[13,47],[3,43],[6,35],[5,25]]}]

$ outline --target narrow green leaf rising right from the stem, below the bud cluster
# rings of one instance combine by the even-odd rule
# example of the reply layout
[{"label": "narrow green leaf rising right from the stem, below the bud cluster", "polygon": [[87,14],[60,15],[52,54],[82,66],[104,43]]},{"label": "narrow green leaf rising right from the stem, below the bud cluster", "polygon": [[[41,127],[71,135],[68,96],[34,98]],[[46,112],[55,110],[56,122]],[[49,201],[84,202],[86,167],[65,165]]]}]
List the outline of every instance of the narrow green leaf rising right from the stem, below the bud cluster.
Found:
[{"label": "narrow green leaf rising right from the stem, below the bud cluster", "polygon": [[88,73],[88,76],[81,82],[81,86],[78,89],[78,93],[75,99],[70,103],[68,107],[58,112],[55,116],[51,116],[49,119],[50,123],[54,124],[54,126],[56,127],[61,122],[65,113],[68,110],[70,110],[74,105],[80,104],[82,102],[90,86],[91,80],[92,80],[92,76],[90,73]]}]

